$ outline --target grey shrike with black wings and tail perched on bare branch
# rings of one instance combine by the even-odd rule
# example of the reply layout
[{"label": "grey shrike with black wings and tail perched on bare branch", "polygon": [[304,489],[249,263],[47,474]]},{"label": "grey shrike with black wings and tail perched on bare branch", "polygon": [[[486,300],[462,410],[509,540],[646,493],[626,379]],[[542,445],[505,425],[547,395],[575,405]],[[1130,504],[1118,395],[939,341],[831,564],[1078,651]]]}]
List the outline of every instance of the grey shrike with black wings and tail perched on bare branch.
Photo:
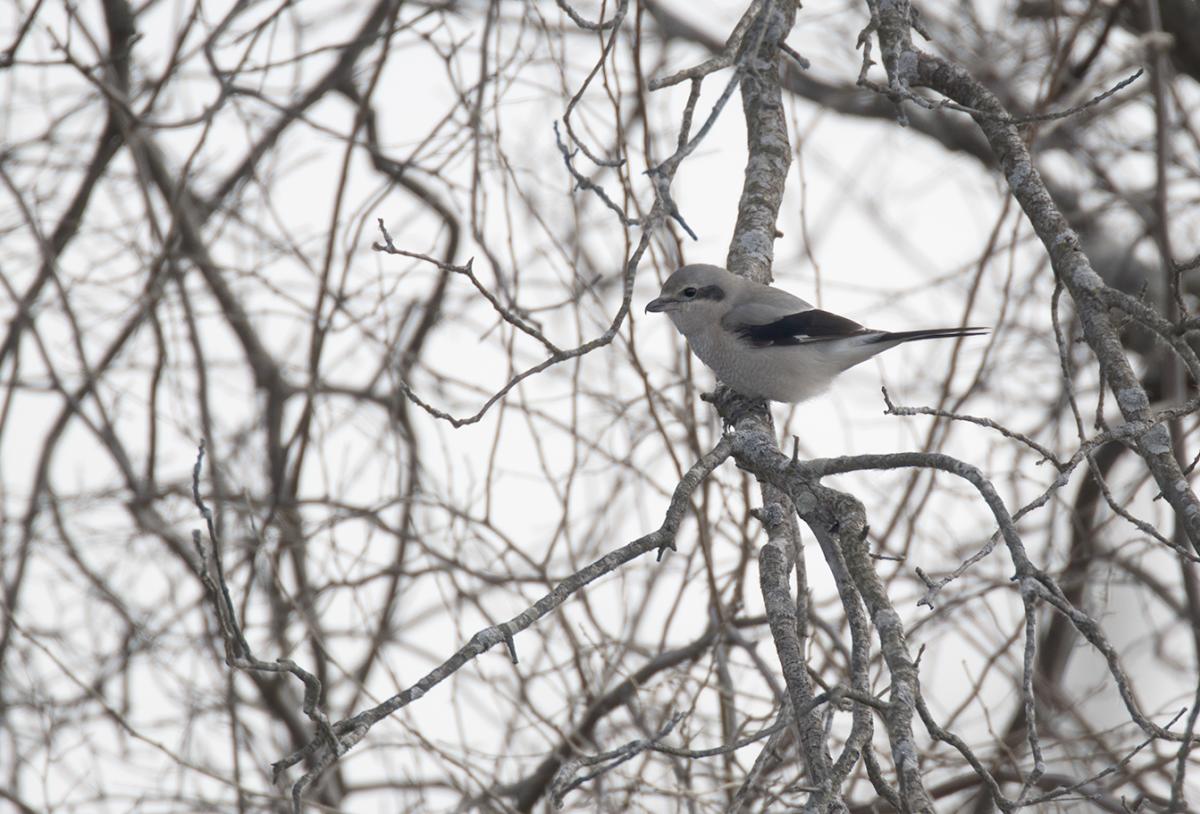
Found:
[{"label": "grey shrike with black wings and tail perched on bare branch", "polygon": [[988,333],[874,330],[707,263],[672,273],[646,312],[667,315],[691,352],[733,390],[792,403],[821,395],[844,371],[904,342]]}]

